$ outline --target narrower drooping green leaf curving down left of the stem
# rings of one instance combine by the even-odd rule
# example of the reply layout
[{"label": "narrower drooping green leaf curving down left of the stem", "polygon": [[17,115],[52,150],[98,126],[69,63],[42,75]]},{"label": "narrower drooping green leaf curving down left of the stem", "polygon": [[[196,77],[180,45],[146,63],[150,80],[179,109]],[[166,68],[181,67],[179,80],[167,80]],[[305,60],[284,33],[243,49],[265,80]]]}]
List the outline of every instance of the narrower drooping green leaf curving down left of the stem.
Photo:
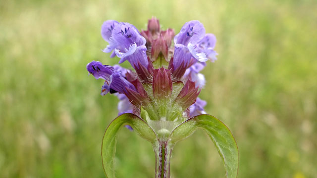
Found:
[{"label": "narrower drooping green leaf curving down left of the stem", "polygon": [[126,113],[115,118],[107,127],[102,143],[101,154],[107,178],[115,178],[113,164],[116,145],[115,135],[123,125],[130,125],[137,134],[151,143],[157,138],[153,129],[143,119],[134,114]]}]

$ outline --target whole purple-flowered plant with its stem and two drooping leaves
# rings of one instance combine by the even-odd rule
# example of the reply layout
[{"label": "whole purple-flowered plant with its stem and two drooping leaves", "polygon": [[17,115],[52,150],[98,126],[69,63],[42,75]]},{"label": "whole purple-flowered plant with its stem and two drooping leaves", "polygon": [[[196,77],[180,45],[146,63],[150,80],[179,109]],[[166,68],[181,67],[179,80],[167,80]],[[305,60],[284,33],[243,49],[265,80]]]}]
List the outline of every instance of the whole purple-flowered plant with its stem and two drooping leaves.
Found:
[{"label": "whole purple-flowered plant with its stem and two drooping leaves", "polygon": [[170,177],[173,146],[198,128],[207,132],[218,149],[226,177],[235,178],[236,142],[221,121],[206,114],[206,101],[198,98],[205,85],[199,72],[206,61],[217,59],[215,36],[205,34],[203,24],[197,20],[185,23],[175,36],[173,29],[161,31],[156,18],[150,19],[147,31],[141,32],[129,23],[107,20],[101,34],[109,43],[103,51],[119,57],[119,63],[127,60],[134,68],[132,71],[98,61],[87,65],[90,74],[105,80],[101,94],[115,94],[120,100],[119,116],[107,127],[102,143],[106,177],[115,177],[115,135],[125,125],[152,143],[156,178]]}]

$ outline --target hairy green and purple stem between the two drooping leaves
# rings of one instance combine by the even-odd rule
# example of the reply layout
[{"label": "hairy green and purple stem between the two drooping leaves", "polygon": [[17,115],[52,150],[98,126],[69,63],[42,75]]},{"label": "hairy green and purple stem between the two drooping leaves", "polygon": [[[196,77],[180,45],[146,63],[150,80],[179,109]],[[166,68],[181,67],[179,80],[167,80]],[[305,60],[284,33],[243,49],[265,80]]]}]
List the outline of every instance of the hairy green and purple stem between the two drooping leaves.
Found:
[{"label": "hairy green and purple stem between the two drooping leaves", "polygon": [[168,141],[158,141],[153,146],[156,153],[155,178],[169,178],[170,156],[173,145]]}]

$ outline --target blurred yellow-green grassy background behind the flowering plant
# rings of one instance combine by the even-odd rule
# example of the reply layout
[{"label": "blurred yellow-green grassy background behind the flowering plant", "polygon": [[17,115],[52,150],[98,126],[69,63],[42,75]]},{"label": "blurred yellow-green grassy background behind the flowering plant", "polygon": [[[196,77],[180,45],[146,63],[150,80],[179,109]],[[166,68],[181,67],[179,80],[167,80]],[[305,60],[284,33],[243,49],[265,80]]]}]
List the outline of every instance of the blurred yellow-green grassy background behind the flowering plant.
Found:
[{"label": "blurred yellow-green grassy background behind the flowering plant", "polygon": [[[239,178],[317,176],[316,0],[1,0],[0,177],[104,178],[101,141],[117,98],[86,64],[100,60],[105,20],[146,29],[152,15],[178,33],[200,20],[217,37],[203,71],[207,113],[232,131]],[[128,66],[128,64],[124,64]],[[152,146],[122,129],[118,178],[154,177]],[[207,134],[179,142],[173,178],[224,178]]]}]

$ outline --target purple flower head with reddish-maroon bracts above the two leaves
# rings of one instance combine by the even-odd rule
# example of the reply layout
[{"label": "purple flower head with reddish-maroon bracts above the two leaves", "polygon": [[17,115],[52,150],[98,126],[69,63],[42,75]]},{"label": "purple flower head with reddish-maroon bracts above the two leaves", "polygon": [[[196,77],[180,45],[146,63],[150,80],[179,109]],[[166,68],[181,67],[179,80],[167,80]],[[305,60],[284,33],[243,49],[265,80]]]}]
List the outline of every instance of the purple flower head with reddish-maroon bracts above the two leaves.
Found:
[{"label": "purple flower head with reddish-maroon bracts above the two leaves", "polygon": [[[207,103],[198,98],[206,83],[200,71],[208,59],[216,60],[217,53],[216,39],[205,34],[202,23],[189,21],[175,36],[173,29],[161,30],[155,17],[141,32],[132,24],[107,20],[101,34],[109,44],[103,51],[112,52],[110,57],[117,56],[118,63],[127,60],[134,69],[98,61],[87,65],[90,74],[105,81],[101,94],[118,96],[119,114],[182,122],[205,113],[203,107]],[[143,115],[144,112],[148,114]]]}]

